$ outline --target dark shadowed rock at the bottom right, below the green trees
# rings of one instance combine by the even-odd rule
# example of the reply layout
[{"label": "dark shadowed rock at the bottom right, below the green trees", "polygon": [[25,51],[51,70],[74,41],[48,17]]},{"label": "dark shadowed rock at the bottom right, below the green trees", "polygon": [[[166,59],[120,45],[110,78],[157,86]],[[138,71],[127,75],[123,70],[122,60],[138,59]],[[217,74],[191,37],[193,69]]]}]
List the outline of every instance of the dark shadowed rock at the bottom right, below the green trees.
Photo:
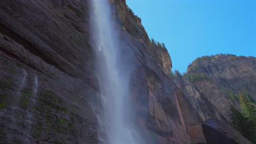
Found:
[{"label": "dark shadowed rock at the bottom right, below the green trees", "polygon": [[202,123],[207,144],[252,144],[238,131],[218,119],[207,119]]}]

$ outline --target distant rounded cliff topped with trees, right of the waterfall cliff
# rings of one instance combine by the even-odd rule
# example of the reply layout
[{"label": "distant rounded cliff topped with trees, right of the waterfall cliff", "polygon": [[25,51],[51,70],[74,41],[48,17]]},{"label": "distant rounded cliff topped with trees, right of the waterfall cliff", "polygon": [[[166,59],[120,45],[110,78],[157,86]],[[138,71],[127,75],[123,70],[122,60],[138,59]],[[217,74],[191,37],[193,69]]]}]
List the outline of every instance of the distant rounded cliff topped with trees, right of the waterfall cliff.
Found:
[{"label": "distant rounded cliff topped with trees, right of the waterfall cliff", "polygon": [[[176,83],[186,95],[206,98],[217,111],[216,117],[229,123],[230,107],[241,109],[239,93],[248,93],[256,100],[255,64],[255,57],[217,55],[197,58],[189,65],[187,74]],[[204,116],[202,118],[206,119]]]}]

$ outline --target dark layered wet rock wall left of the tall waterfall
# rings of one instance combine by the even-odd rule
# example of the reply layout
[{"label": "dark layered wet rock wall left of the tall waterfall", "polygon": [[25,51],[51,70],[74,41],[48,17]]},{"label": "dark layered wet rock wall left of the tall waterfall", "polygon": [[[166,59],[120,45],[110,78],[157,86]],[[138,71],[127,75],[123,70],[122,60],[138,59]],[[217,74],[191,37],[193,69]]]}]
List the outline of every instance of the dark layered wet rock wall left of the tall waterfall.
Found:
[{"label": "dark layered wet rock wall left of the tall waterfall", "polygon": [[96,143],[88,4],[0,2],[0,143]]}]

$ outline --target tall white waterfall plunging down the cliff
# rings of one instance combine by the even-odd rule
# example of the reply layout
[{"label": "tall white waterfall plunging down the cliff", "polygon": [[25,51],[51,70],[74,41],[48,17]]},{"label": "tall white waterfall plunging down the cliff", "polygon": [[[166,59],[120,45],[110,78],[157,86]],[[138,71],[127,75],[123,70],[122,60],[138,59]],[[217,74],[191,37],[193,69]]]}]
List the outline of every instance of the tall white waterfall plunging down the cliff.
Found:
[{"label": "tall white waterfall plunging down the cliff", "polygon": [[[120,57],[119,38],[108,0],[92,0],[91,27],[103,112],[97,115],[101,143],[142,144],[129,111],[129,73]],[[127,62],[126,62],[127,63]],[[132,68],[131,68],[132,69]],[[105,134],[102,134],[104,133]],[[103,135],[103,136],[102,136]],[[106,135],[106,136],[104,136]],[[106,137],[106,138],[105,138]]]}]

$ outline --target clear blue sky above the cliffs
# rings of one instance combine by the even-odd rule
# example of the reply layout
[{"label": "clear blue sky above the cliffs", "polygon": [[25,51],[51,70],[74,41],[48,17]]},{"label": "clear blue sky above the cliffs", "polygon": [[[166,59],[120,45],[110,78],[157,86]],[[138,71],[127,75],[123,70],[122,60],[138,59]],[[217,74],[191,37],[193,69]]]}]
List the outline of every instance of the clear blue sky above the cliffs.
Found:
[{"label": "clear blue sky above the cliffs", "polygon": [[165,43],[172,70],[197,57],[232,53],[256,57],[255,0],[126,0],[149,38]]}]

